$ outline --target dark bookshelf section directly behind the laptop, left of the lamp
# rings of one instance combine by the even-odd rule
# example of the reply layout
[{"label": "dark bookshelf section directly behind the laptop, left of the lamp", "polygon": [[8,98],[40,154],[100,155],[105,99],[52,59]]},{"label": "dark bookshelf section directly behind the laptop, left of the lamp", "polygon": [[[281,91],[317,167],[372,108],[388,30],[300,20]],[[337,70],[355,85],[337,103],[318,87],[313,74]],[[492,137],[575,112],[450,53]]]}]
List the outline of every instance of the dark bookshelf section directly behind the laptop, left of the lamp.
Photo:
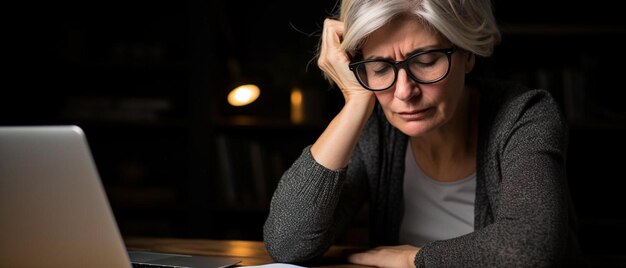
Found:
[{"label": "dark bookshelf section directly behind the laptop, left of the lamp", "polygon": [[207,3],[12,4],[0,124],[82,127],[124,235],[205,234]]}]

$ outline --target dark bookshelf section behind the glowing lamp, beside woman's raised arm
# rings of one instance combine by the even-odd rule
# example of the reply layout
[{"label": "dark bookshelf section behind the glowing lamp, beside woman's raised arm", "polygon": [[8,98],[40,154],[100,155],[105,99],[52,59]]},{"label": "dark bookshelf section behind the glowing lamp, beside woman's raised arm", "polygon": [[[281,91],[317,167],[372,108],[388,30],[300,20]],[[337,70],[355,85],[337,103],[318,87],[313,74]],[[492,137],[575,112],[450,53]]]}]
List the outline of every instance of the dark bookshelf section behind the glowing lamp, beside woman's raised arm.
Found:
[{"label": "dark bookshelf section behind the glowing lamp, beside woman's raised arm", "polygon": [[[342,99],[330,88],[315,62],[315,32],[333,1],[219,1],[212,7],[219,25],[213,38],[223,40],[211,81],[209,211],[221,238],[262,239],[269,201],[282,173],[312,144]],[[279,10],[290,10],[281,13]],[[242,20],[240,18],[253,18]],[[319,33],[318,33],[319,34]],[[233,67],[234,66],[234,67]],[[227,68],[225,68],[227,67]],[[233,107],[226,96],[237,82],[261,88],[254,103]],[[305,120],[291,120],[290,95],[304,95]]]}]

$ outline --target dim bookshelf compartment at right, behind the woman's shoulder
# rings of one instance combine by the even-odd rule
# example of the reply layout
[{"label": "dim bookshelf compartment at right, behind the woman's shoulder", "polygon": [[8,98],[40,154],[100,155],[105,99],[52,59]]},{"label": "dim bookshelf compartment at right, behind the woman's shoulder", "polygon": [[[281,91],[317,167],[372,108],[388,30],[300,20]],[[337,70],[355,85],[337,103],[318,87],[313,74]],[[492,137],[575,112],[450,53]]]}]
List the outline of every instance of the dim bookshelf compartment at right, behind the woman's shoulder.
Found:
[{"label": "dim bookshelf compartment at right, behind the woman's shoulder", "polygon": [[[503,27],[496,48],[497,75],[544,88],[561,103],[573,127],[617,126],[626,118],[618,102],[620,46],[626,27],[533,25]],[[624,43],[624,41],[621,41]]]}]

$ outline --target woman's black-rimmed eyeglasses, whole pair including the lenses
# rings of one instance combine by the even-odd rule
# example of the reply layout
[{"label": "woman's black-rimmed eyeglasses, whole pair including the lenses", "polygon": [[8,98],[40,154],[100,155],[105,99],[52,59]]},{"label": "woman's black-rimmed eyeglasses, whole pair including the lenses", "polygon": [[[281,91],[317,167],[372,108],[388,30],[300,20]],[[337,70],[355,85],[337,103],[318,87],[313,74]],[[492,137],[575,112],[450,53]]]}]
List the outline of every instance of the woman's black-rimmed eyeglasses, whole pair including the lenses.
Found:
[{"label": "woman's black-rimmed eyeglasses, whole pair including the lenses", "polygon": [[411,55],[403,61],[383,59],[364,60],[350,63],[363,87],[372,91],[391,88],[398,79],[398,70],[403,68],[411,79],[420,84],[432,84],[444,79],[450,72],[451,55],[457,50],[451,48],[433,49]]}]

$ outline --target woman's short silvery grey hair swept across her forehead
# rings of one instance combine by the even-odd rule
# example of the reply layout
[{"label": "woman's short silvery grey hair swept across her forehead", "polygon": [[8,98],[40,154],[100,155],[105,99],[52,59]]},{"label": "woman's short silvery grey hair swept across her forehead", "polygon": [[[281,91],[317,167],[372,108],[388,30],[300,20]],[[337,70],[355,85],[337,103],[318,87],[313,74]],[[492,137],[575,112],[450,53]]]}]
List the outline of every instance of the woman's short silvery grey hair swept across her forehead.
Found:
[{"label": "woman's short silvery grey hair swept across her forehead", "polygon": [[370,34],[405,14],[416,16],[453,44],[478,56],[491,56],[501,39],[491,0],[342,0],[342,48],[356,52]]}]

